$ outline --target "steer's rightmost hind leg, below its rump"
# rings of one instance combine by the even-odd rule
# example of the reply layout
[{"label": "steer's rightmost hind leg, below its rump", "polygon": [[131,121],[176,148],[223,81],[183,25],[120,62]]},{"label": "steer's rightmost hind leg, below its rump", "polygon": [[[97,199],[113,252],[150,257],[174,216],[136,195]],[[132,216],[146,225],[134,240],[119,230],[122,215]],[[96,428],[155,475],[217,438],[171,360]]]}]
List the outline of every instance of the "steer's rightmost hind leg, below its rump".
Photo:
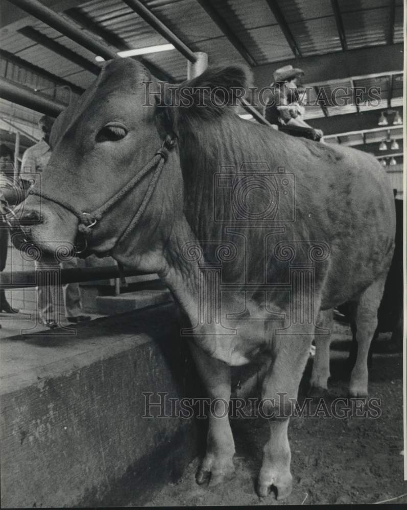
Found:
[{"label": "steer's rightmost hind leg, below its rump", "polygon": [[381,277],[361,295],[356,309],[356,363],[352,370],[349,394],[363,397],[368,394],[368,353],[377,326],[377,310],[380,305],[386,276]]}]

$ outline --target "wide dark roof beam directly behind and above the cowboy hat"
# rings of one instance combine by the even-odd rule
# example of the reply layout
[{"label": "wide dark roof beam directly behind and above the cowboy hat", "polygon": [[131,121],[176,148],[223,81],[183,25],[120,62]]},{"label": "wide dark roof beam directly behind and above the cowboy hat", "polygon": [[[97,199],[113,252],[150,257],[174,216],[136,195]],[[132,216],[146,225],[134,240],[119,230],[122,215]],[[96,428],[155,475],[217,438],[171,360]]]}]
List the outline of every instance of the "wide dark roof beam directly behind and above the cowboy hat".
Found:
[{"label": "wide dark roof beam directly behind and above the cowboy hat", "polygon": [[326,84],[330,80],[356,78],[368,74],[402,72],[403,44],[370,46],[333,52],[302,59],[281,60],[253,68],[254,83],[258,87],[270,85],[270,77],[278,68],[291,64],[303,69],[304,83]]}]

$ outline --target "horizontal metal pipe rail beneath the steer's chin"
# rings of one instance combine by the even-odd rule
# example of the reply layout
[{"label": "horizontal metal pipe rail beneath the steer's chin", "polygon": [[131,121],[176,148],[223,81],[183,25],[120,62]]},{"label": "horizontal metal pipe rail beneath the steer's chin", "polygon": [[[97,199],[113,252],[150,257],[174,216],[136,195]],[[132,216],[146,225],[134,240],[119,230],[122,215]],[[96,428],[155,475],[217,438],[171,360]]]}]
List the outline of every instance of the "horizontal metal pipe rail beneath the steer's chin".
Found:
[{"label": "horizontal metal pipe rail beneath the steer's chin", "polygon": [[[58,266],[57,266],[58,267]],[[43,269],[46,271],[46,269]],[[41,270],[40,270],[41,271]],[[61,284],[71,284],[79,282],[94,282],[110,278],[120,278],[122,276],[143,276],[152,274],[148,271],[119,271],[117,266],[85,267],[60,269]],[[0,273],[0,289],[22,289],[26,287],[35,287],[37,285],[36,271],[13,271]]]}]

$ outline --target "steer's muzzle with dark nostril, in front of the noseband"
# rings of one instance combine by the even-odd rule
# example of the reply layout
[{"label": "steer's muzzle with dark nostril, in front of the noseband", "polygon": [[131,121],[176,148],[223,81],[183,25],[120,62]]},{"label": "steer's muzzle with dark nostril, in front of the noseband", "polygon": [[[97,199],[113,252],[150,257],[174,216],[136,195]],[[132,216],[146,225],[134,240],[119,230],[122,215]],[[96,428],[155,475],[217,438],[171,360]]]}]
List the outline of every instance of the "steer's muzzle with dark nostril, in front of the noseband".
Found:
[{"label": "steer's muzzle with dark nostril, in front of the noseband", "polygon": [[38,257],[75,251],[78,219],[56,203],[30,195],[14,209],[11,239],[22,251],[37,247]]}]

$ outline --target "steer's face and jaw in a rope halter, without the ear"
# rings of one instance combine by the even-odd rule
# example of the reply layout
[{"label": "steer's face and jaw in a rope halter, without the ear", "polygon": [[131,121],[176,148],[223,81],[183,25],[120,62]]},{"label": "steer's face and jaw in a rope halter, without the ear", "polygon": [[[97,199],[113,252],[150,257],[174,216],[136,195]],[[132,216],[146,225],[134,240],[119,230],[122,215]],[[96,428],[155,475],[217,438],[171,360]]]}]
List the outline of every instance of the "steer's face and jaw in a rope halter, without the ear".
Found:
[{"label": "steer's face and jaw in a rope halter, without the ear", "polygon": [[[35,188],[38,195],[29,195],[24,205],[23,216],[38,219],[30,226],[32,241],[48,251],[58,242],[83,245],[86,229],[73,210],[92,213],[105,205],[142,172],[165,137],[177,131],[176,115],[162,107],[162,90],[140,63],[115,59],[77,103],[59,115],[50,138],[52,156]],[[84,254],[112,254],[124,265],[159,272],[158,253],[183,214],[177,144],[168,151],[146,205],[154,175],[154,170],[148,172],[97,218],[85,232]],[[140,208],[137,228],[123,237]]]}]

